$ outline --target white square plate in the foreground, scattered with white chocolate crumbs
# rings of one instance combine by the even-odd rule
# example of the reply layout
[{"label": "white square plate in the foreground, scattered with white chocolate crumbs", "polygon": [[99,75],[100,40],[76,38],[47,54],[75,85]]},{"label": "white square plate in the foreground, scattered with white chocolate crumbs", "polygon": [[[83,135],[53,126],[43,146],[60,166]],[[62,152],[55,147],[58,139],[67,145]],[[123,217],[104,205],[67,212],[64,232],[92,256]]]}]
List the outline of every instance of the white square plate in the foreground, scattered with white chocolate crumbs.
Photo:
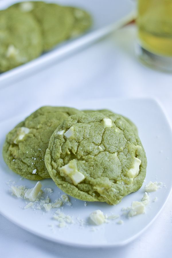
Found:
[{"label": "white square plate in the foreground, scattered with white chocolate crumbs", "polygon": [[[68,105],[73,106],[73,103],[68,103]],[[36,182],[27,179],[20,180],[21,177],[7,167],[1,155],[0,212],[20,227],[54,242],[84,247],[114,247],[124,245],[148,228],[169,196],[172,186],[171,160],[169,159],[172,156],[171,128],[161,107],[152,99],[99,99],[78,102],[75,103],[75,107],[79,109],[107,108],[127,116],[136,124],[148,161],[146,180],[143,186],[137,192],[123,198],[122,202],[116,206],[100,202],[87,202],[87,206],[84,206],[83,201],[70,198],[72,206],[64,205],[62,211],[74,217],[74,224],[70,224],[68,227],[58,228],[58,222],[52,220],[54,211],[57,208],[45,213],[44,210],[23,209],[25,206],[24,200],[11,196],[10,187],[6,184],[7,181],[12,180],[15,181],[16,185],[25,185],[30,188]],[[1,122],[1,150],[5,140],[5,134],[27,115],[29,114]],[[149,181],[161,181],[163,185],[156,192],[150,193],[151,202],[146,207],[146,213],[130,219],[122,216],[122,207],[130,206],[133,200],[139,201],[144,194],[144,185]],[[42,180],[41,183],[43,185],[42,189],[45,187],[53,189],[53,193],[50,196],[52,202],[61,196],[62,191],[56,187],[51,179]],[[155,197],[158,198],[157,202],[153,202]],[[111,220],[108,224],[94,226],[95,231],[92,231],[93,225],[89,223],[84,226],[79,224],[77,217],[88,221],[89,214],[97,209],[102,210],[108,215],[111,212],[119,214],[119,219],[122,219],[124,223],[120,225],[117,224],[119,219]],[[48,224],[54,225],[53,231]]]}]

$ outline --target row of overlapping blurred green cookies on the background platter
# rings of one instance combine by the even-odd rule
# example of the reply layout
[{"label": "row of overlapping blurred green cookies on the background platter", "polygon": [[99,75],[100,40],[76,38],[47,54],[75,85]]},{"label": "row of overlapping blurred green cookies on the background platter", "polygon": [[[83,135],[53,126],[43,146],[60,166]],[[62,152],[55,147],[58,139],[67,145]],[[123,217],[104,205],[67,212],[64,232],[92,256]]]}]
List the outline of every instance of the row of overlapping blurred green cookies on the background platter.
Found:
[{"label": "row of overlapping blurred green cookies on the background platter", "polygon": [[0,71],[24,64],[91,27],[86,11],[39,1],[0,11]]}]

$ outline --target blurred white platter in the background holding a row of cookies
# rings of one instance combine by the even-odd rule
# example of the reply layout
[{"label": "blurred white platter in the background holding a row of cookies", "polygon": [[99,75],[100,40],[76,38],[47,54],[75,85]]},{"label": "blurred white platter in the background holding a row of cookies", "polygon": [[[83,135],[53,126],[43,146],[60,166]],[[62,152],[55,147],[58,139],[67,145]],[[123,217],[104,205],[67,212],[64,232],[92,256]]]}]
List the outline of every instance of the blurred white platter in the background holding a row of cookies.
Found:
[{"label": "blurred white platter in the background holding a row of cookies", "polygon": [[[0,10],[19,2],[20,0],[1,0]],[[28,1],[28,0],[21,0]],[[34,1],[34,0],[32,0]],[[54,49],[42,54],[40,57],[11,69],[7,72],[0,73],[1,82],[11,81],[14,78],[20,79],[22,76],[28,76],[30,73],[43,69],[53,64],[62,57],[77,51],[84,46],[94,42],[115,29],[122,27],[135,17],[135,5],[131,0],[45,0],[62,5],[71,5],[81,7],[89,11],[93,17],[93,26],[85,34],[78,38],[68,40],[58,44]]]}]

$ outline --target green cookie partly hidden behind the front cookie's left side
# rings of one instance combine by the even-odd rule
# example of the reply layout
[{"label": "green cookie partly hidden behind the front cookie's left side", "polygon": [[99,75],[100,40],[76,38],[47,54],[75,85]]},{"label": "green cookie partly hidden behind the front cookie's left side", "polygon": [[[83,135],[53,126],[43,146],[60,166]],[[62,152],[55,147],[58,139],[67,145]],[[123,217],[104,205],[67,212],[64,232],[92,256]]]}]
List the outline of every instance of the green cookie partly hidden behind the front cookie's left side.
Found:
[{"label": "green cookie partly hidden behind the front cookie's left side", "polygon": [[79,112],[70,107],[41,107],[19,123],[7,134],[3,146],[10,169],[32,180],[50,177],[44,163],[50,136],[64,119]]}]

